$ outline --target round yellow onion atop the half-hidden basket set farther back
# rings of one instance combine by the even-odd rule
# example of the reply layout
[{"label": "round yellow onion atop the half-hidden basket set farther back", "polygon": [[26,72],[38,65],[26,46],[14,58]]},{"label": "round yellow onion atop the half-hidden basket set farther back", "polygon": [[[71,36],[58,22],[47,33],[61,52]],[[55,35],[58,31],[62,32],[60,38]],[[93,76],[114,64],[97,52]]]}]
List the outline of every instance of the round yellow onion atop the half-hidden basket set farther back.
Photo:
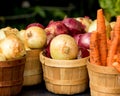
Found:
[{"label": "round yellow onion atop the half-hidden basket set farther back", "polygon": [[43,48],[47,42],[46,32],[37,26],[27,28],[25,38],[29,48]]}]

